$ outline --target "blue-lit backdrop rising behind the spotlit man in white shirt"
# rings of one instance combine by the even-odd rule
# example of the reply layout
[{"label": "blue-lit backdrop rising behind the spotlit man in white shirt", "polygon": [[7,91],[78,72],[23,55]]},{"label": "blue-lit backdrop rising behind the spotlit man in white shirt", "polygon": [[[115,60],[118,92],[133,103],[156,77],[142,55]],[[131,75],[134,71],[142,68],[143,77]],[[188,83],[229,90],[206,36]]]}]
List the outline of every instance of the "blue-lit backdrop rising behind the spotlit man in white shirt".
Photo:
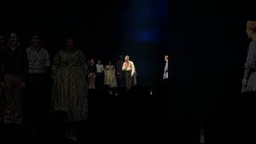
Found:
[{"label": "blue-lit backdrop rising behind the spotlit man in white shirt", "polygon": [[162,74],[162,51],[167,48],[168,1],[130,0],[122,14],[122,50],[138,72],[138,83],[154,86]]}]

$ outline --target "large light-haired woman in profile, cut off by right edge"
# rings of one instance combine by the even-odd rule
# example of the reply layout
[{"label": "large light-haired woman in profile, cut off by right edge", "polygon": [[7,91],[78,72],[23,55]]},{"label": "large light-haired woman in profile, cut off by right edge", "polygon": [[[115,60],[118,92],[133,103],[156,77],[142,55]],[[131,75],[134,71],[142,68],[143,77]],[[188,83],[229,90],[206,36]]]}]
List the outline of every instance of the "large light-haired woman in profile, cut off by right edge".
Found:
[{"label": "large light-haired woman in profile, cut off by right edge", "polygon": [[[242,123],[242,138],[253,140],[250,132],[254,130],[255,123],[255,96],[256,96],[256,22],[248,21],[246,23],[247,37],[252,39],[244,64],[244,76],[242,78],[242,98],[239,98],[239,116]],[[249,141],[250,141],[249,140]],[[249,142],[248,141],[248,142]]]}]

